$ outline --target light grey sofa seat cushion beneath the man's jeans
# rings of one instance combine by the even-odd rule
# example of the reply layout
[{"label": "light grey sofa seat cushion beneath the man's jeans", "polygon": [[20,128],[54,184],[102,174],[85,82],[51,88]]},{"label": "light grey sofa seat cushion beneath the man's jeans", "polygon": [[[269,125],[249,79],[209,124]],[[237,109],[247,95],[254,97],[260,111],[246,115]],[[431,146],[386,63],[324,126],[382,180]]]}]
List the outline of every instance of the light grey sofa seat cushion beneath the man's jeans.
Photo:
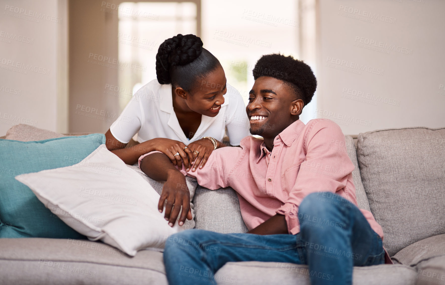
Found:
[{"label": "light grey sofa seat cushion beneath the man's jeans", "polygon": [[[279,262],[228,262],[215,274],[218,285],[310,285],[307,265]],[[328,280],[328,276],[320,274]],[[329,277],[330,278],[330,277]],[[373,265],[354,267],[355,285],[414,285],[416,270],[405,265]],[[335,275],[332,281],[335,281]]]}]

